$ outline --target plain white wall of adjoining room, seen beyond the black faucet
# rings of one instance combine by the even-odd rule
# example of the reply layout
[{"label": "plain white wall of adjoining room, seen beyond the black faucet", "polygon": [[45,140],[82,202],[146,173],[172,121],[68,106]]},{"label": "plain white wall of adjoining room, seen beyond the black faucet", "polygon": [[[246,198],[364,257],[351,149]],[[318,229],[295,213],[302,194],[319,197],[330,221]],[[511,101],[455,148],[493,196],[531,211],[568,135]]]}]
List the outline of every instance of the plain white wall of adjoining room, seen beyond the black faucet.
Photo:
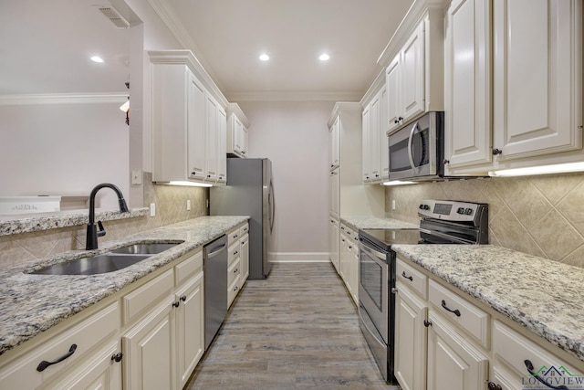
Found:
[{"label": "plain white wall of adjoining room, seen beyond the black faucet", "polygon": [[[119,103],[0,106],[0,195],[128,194],[129,129]],[[100,207],[117,196],[99,191]]]}]

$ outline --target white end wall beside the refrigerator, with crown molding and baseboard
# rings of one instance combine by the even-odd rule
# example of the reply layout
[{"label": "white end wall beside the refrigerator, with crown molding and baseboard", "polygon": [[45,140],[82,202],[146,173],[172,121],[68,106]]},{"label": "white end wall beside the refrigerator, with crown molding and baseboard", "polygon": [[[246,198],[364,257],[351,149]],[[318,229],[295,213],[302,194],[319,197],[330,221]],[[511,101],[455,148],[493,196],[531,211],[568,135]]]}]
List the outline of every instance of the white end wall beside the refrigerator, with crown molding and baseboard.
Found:
[{"label": "white end wall beside the refrigerator, with crown molding and baseboard", "polygon": [[328,258],[328,118],[333,102],[240,102],[249,157],[272,160],[275,260]]}]

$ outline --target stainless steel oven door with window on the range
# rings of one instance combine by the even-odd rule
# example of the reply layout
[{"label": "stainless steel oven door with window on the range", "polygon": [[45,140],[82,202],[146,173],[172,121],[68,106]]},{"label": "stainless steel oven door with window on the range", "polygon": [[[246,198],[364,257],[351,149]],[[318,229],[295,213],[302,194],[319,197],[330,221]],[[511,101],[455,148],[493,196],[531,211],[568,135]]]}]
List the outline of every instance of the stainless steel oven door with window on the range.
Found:
[{"label": "stainless steel oven door with window on the range", "polygon": [[[370,322],[388,344],[389,321],[389,266],[387,253],[373,248],[360,237],[359,244],[359,300]],[[362,314],[361,314],[362,316]],[[369,324],[368,324],[369,325]]]}]

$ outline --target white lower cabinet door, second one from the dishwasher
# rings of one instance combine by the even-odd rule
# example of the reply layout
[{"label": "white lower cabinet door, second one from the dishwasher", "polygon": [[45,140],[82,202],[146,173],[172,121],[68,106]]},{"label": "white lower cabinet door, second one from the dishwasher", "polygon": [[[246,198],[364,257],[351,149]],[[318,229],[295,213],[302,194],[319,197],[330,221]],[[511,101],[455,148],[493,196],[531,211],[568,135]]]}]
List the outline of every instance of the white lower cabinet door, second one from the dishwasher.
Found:
[{"label": "white lower cabinet door, second one from the dishwasher", "polygon": [[124,389],[176,388],[172,303],[173,295],[122,336]]}]

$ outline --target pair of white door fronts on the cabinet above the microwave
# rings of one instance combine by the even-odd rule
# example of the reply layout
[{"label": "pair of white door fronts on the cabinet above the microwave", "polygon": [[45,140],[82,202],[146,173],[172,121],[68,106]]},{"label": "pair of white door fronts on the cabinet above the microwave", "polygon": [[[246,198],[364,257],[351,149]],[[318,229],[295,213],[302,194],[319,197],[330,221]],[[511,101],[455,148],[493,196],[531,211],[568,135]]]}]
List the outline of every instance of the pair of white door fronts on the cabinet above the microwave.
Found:
[{"label": "pair of white door fronts on the cabinet above the microwave", "polygon": [[388,130],[400,127],[425,110],[424,24],[420,23],[386,71]]}]

